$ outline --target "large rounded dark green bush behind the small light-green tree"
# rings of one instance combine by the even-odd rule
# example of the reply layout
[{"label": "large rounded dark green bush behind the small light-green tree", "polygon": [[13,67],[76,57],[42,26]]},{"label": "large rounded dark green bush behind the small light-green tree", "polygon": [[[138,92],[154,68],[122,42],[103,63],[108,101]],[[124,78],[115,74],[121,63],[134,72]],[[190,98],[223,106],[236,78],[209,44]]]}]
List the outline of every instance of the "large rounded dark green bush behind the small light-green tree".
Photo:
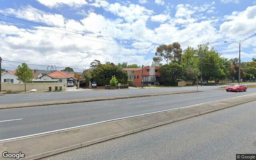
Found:
[{"label": "large rounded dark green bush behind the small light-green tree", "polygon": [[112,76],[121,84],[127,84],[128,75],[119,66],[111,64],[100,64],[94,70],[90,71],[91,81],[97,82],[97,86],[108,85]]}]

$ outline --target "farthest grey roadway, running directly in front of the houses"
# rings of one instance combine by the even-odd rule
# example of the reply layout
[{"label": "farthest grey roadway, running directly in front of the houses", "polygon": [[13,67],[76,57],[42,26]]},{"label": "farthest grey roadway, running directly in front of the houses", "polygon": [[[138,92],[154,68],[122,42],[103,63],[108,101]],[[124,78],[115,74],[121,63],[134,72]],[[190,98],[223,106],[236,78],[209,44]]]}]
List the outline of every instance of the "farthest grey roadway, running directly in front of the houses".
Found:
[{"label": "farthest grey roadway, running directly in front of the houses", "polygon": [[[256,84],[256,83],[255,83]],[[199,86],[202,91],[212,90],[220,86]],[[0,96],[0,104],[11,104],[20,102],[43,102],[50,100],[71,100],[79,98],[94,98],[107,96],[125,96],[143,93],[161,93],[184,90],[196,90],[196,86],[190,87],[170,87],[170,88],[145,88],[145,89],[123,89],[123,90],[90,90],[74,92],[43,92],[30,94],[7,94]]]}]

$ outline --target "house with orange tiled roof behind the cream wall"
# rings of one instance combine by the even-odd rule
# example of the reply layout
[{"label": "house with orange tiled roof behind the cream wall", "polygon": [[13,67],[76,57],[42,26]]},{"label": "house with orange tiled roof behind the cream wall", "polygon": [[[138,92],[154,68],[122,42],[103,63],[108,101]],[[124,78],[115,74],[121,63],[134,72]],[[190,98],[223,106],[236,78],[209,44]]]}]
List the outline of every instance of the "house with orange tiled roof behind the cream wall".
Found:
[{"label": "house with orange tiled roof behind the cream wall", "polygon": [[75,78],[74,74],[69,74],[70,72],[63,72],[63,71],[54,71],[50,74],[45,74],[37,79],[40,80],[58,80],[57,82],[63,82],[63,83],[68,83],[72,81],[74,84],[77,83],[78,79]]}]

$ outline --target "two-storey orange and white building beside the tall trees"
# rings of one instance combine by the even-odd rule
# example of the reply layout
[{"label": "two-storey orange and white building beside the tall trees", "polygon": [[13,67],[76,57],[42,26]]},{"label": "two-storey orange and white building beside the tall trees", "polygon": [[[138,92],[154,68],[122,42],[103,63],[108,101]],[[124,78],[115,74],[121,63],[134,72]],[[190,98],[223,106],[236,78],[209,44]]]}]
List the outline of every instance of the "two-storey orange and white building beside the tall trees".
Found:
[{"label": "two-storey orange and white building beside the tall trees", "polygon": [[[133,73],[130,75],[133,76],[133,83],[136,84],[137,86],[142,86],[142,78],[143,78],[143,86],[148,86],[148,84],[151,85],[159,85],[159,73],[160,70],[158,67],[150,67],[150,66],[145,66],[143,67],[143,77],[142,77],[142,68],[131,68],[125,69],[126,71],[128,70],[129,72],[132,70]],[[127,72],[128,73],[128,72]],[[128,77],[129,79],[130,77]],[[132,79],[132,78],[131,78]]]}]

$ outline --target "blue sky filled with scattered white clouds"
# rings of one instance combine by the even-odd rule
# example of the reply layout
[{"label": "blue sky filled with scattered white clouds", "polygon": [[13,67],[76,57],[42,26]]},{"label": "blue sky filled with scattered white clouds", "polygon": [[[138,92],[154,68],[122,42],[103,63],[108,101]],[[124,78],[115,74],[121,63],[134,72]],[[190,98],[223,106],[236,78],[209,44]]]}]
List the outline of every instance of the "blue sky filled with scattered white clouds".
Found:
[{"label": "blue sky filled with scattered white clouds", "polygon": [[[0,14],[2,59],[77,71],[95,59],[151,64],[156,47],[173,42],[209,42],[236,58],[239,45],[224,41],[256,34],[256,0],[0,0]],[[241,45],[243,62],[255,57],[256,36]]]}]

